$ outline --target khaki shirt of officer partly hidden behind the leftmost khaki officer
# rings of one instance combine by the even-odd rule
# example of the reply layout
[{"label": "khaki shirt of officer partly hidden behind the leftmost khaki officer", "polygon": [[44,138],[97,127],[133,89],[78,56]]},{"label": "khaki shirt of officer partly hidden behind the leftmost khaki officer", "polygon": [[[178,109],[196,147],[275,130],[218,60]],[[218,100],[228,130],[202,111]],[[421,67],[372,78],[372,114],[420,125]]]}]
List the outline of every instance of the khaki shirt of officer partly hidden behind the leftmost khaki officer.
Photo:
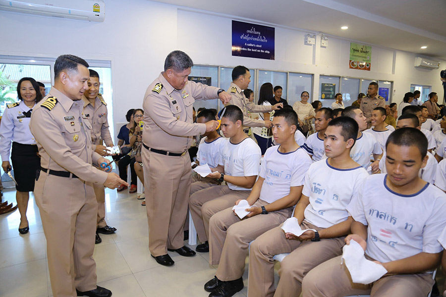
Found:
[{"label": "khaki shirt of officer partly hidden behind the leftmost khaki officer", "polygon": [[93,144],[93,150],[96,150],[96,145],[101,144],[101,139],[104,140],[106,146],[113,146],[109,130],[109,121],[107,119],[107,103],[102,98],[102,95],[99,94],[96,97],[95,107],[93,107],[84,95],[82,95],[82,101],[84,102],[84,116],[92,126],[91,142]]}]

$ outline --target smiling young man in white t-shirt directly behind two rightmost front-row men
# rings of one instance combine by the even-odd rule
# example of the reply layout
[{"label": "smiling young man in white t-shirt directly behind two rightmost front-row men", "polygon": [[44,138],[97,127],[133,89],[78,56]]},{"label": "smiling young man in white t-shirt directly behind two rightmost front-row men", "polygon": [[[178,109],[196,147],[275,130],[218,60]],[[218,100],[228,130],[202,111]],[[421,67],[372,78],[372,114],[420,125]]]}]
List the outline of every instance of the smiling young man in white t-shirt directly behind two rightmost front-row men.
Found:
[{"label": "smiling young man in white t-shirt directly behind two rightmost front-row men", "polygon": [[[348,106],[342,111],[342,116],[348,116],[354,119],[359,126],[358,137],[350,151],[351,158],[366,169],[371,166],[372,173],[377,173],[379,170],[379,161],[383,156],[383,150],[375,136],[370,133],[362,133],[362,131],[367,129],[367,119],[362,113],[362,110],[355,106]],[[373,163],[370,161],[372,155],[375,160]]]}]

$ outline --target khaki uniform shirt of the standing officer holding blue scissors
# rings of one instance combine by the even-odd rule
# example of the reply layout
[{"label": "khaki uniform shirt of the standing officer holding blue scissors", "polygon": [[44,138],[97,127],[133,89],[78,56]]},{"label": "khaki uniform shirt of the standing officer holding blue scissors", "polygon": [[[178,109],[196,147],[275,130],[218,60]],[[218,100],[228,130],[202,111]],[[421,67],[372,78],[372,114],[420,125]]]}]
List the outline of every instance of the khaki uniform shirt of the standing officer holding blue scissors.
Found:
[{"label": "khaki uniform shirt of the standing officer holding blue scissors", "polygon": [[101,156],[92,150],[91,125],[82,118],[82,109],[82,100],[73,101],[53,87],[33,108],[29,128],[43,168],[69,171],[84,181],[104,184],[108,174],[92,166]]}]

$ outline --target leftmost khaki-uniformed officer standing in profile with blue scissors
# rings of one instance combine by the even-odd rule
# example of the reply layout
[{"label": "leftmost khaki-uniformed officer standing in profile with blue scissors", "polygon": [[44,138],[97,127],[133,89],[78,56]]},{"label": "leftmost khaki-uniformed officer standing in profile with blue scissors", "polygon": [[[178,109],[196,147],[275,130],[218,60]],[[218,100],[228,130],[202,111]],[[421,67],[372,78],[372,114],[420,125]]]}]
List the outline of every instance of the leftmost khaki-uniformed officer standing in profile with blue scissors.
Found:
[{"label": "leftmost khaki-uniformed officer standing in profile with blue scissors", "polygon": [[96,285],[93,260],[98,203],[93,184],[114,189],[125,181],[92,166],[108,161],[92,150],[91,126],[82,115],[88,64],[61,55],[54,65],[55,84],[33,109],[30,130],[41,158],[34,197],[47,239],[54,297],[109,297]]}]

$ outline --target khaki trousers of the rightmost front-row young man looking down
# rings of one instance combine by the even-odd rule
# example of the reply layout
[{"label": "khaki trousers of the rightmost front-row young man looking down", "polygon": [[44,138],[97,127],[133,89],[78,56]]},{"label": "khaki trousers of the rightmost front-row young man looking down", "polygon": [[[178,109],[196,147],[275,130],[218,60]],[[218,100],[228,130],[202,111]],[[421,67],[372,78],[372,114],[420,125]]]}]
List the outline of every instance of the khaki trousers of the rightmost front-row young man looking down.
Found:
[{"label": "khaki trousers of the rightmost front-row young man looking down", "polygon": [[341,256],[328,260],[313,270],[302,283],[303,297],[342,297],[366,295],[371,297],[424,297],[429,294],[434,280],[430,273],[396,274],[384,276],[369,285],[355,284],[341,264]]}]

